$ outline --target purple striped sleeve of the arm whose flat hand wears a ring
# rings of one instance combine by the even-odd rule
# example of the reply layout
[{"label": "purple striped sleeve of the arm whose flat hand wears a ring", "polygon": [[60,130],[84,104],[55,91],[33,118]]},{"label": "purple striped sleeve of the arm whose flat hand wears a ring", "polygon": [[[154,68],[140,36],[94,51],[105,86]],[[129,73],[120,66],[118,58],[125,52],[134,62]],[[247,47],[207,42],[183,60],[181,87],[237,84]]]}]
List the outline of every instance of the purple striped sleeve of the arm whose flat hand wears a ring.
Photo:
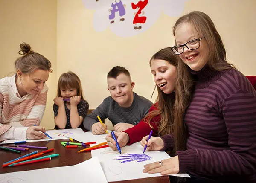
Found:
[{"label": "purple striped sleeve of the arm whose flat hand wears a ring", "polygon": [[237,90],[220,106],[228,133],[228,150],[178,151],[180,172],[218,176],[250,175],[256,169],[256,95]]}]

